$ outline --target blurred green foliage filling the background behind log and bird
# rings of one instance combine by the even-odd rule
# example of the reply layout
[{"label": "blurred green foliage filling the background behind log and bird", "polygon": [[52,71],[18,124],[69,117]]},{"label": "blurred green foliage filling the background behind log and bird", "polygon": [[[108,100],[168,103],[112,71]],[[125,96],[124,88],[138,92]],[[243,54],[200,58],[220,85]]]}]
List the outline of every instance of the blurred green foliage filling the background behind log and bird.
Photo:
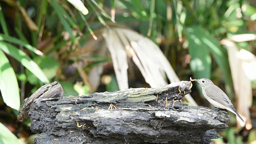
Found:
[{"label": "blurred green foliage filling the background behind log and bird", "polygon": [[[103,73],[110,75],[111,81],[106,86],[100,83],[98,91],[118,90],[109,58],[94,50],[82,50],[91,37],[96,39],[94,33],[100,27],[114,21],[156,42],[180,79],[188,80],[192,75],[212,78],[234,99],[227,52],[219,41],[235,34],[255,34],[255,0],[86,0],[84,5],[87,15],[66,0],[0,1],[0,85],[6,86],[0,89],[8,106],[18,109],[20,101],[53,81],[61,83],[66,96],[89,94],[86,82],[77,83],[83,81],[74,68],[78,62],[84,64],[85,76],[92,68],[104,64]],[[115,10],[114,20],[111,9]],[[237,45],[256,53],[254,42]],[[84,54],[83,58],[79,54]],[[147,86],[140,72],[134,71],[131,87]],[[193,90],[192,94],[197,95],[198,91]],[[194,98],[199,105],[208,106],[200,97]],[[0,105],[8,114],[15,115],[4,103]],[[29,133],[25,124],[17,124],[13,118],[0,118],[0,122],[13,126],[13,133]],[[16,142],[17,138],[2,123],[0,141]],[[255,128],[247,133],[243,129],[234,132],[235,128],[230,122],[230,128],[221,133],[224,142],[255,140]]]}]

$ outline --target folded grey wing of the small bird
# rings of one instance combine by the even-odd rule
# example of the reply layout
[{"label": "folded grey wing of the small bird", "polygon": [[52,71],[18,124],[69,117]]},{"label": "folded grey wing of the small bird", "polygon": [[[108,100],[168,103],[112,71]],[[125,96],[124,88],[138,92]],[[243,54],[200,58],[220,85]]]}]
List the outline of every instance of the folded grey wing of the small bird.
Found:
[{"label": "folded grey wing of the small bird", "polygon": [[205,88],[206,95],[215,100],[216,102],[223,104],[224,106],[228,106],[229,108],[234,108],[228,96],[218,87],[218,86],[210,86]]}]

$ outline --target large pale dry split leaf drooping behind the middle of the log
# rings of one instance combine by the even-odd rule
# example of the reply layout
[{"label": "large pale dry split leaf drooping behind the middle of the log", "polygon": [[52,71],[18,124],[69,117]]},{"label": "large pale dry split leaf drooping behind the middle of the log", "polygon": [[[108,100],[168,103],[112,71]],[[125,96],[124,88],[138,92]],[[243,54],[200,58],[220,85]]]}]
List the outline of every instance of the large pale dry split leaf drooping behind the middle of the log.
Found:
[{"label": "large pale dry split leaf drooping behind the middle of the log", "polygon": [[[127,80],[127,73],[126,75],[123,73],[121,76],[121,72],[118,71],[127,71],[127,69],[122,68],[123,66],[128,66],[127,59],[122,60],[123,57],[127,57],[127,55],[132,56],[132,60],[138,66],[146,82],[150,84],[151,87],[166,85],[166,75],[171,82],[180,82],[178,76],[175,74],[172,66],[162,51],[150,39],[128,28],[111,27],[105,28],[103,32],[107,47],[112,55],[112,60],[115,58],[115,60],[113,60],[113,65],[116,72],[116,77],[119,79],[118,86],[121,85],[119,84],[120,82]],[[111,36],[113,38],[111,38]],[[122,53],[120,54],[118,50]],[[123,52],[126,52],[126,55]],[[118,55],[121,56],[118,57]],[[120,65],[122,67],[120,67]],[[116,66],[118,67],[115,68]],[[121,78],[125,78],[125,80],[120,80]],[[127,87],[123,88],[128,88],[128,83],[126,86]],[[193,106],[197,106],[196,102],[189,94],[186,96],[186,99]]]}]

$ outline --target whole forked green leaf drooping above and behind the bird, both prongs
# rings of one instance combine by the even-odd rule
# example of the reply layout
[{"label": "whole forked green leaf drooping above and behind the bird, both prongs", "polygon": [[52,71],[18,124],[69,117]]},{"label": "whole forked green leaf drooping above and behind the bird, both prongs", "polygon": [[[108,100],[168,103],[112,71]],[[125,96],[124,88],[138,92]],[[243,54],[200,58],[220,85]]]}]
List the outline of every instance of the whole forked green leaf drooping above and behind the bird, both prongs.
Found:
[{"label": "whole forked green leaf drooping above and behind the bird, both prongs", "polygon": [[[206,61],[202,62],[203,66],[202,68],[206,68],[205,70],[202,69],[200,71],[200,74],[198,74],[198,68],[194,68],[194,66],[191,67],[193,70],[195,76],[199,75],[199,78],[210,78],[210,70],[211,68],[211,60],[210,60],[210,55],[209,52],[212,54],[214,57],[214,60],[220,67],[220,70],[223,73],[223,78],[226,83],[226,92],[228,96],[231,95],[232,91],[232,77],[230,75],[230,68],[229,68],[229,63],[228,63],[228,55],[227,52],[224,51],[224,48],[222,48],[219,44],[219,42],[209,34],[207,30],[200,26],[193,26],[190,28],[186,28],[186,34],[188,37],[188,42],[192,42],[192,49],[189,48],[189,52],[191,52],[194,55],[191,55],[191,62],[190,66],[192,66],[193,63],[192,60],[195,59],[196,63],[198,61],[198,58],[200,59],[198,62],[199,64],[201,63],[200,61]],[[189,44],[191,46],[191,44]],[[198,57],[199,56],[199,57]],[[200,68],[200,67],[199,67]],[[208,68],[208,69],[207,69]],[[205,74],[204,74],[205,73]]]}]

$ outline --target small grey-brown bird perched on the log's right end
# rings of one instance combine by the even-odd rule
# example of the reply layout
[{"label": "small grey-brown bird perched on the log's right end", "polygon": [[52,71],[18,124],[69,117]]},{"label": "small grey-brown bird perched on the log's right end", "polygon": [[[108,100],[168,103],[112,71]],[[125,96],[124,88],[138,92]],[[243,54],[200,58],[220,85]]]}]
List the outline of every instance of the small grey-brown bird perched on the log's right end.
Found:
[{"label": "small grey-brown bird perched on the log's right end", "polygon": [[236,114],[236,116],[238,116],[238,118],[240,118],[240,120],[244,122],[242,117],[238,114],[238,112],[234,108],[228,96],[218,86],[216,86],[211,80],[207,78],[200,78],[200,79],[195,79],[194,81],[200,84],[200,86],[202,87],[202,92],[204,97],[211,104],[213,104],[217,108],[226,109]]}]

